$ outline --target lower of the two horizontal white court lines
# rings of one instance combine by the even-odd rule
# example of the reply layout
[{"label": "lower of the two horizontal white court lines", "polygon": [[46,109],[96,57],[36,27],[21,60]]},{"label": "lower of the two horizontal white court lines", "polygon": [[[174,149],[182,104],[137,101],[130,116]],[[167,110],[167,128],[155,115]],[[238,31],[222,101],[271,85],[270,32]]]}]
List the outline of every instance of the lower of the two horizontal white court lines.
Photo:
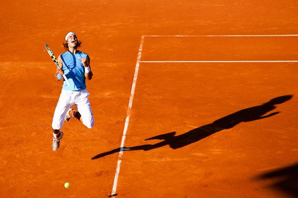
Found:
[{"label": "lower of the two horizontal white court lines", "polygon": [[141,62],[148,62],[148,63],[164,63],[164,62],[169,62],[169,63],[216,63],[216,62],[298,62],[298,60],[157,60],[157,61],[141,61]]}]

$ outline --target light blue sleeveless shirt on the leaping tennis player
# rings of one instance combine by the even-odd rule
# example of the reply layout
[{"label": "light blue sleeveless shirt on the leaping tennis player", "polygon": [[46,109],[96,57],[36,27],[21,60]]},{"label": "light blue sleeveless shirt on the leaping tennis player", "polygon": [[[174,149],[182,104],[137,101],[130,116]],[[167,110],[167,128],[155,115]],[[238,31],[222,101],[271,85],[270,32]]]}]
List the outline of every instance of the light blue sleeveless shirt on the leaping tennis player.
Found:
[{"label": "light blue sleeveless shirt on the leaping tennis player", "polygon": [[80,62],[81,58],[87,57],[88,54],[78,51],[73,54],[70,51],[66,51],[60,54],[63,62],[64,74],[71,83],[67,85],[66,81],[63,82],[63,90],[77,91],[80,89],[86,89],[85,82],[85,68]]}]

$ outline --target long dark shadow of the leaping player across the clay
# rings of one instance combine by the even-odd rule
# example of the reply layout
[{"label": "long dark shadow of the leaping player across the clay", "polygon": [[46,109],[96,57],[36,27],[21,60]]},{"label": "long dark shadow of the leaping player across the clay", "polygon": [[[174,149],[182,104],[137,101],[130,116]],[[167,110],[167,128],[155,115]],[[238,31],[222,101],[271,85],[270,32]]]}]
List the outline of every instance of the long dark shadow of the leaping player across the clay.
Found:
[{"label": "long dark shadow of the leaping player across the clay", "polygon": [[276,108],[276,104],[281,104],[289,99],[291,99],[292,95],[287,96],[281,96],[274,99],[271,99],[270,101],[258,105],[253,106],[250,108],[245,108],[240,111],[237,111],[235,113],[232,113],[230,115],[227,115],[223,118],[220,118],[216,121],[214,121],[211,124],[207,124],[201,127],[198,127],[196,129],[193,129],[191,131],[188,131],[184,134],[175,136],[176,132],[171,132],[167,134],[162,134],[158,136],[154,136],[151,138],[148,138],[146,140],[163,140],[162,142],[159,142],[154,145],[140,145],[135,147],[124,147],[124,148],[115,148],[113,150],[103,152],[100,154],[97,154],[96,156],[92,157],[91,159],[97,159],[109,154],[113,154],[116,152],[119,152],[120,149],[126,151],[126,150],[151,150],[154,148],[163,147],[166,145],[169,145],[170,148],[177,149],[181,147],[185,147],[187,145],[190,145],[192,143],[198,142],[199,140],[202,140],[212,134],[215,134],[219,131],[222,131],[224,129],[230,129],[234,127],[235,125],[241,123],[241,122],[250,122],[254,120],[264,119],[271,117],[273,115],[278,114],[279,112],[272,112],[268,115],[265,115],[269,111],[272,111]]}]

